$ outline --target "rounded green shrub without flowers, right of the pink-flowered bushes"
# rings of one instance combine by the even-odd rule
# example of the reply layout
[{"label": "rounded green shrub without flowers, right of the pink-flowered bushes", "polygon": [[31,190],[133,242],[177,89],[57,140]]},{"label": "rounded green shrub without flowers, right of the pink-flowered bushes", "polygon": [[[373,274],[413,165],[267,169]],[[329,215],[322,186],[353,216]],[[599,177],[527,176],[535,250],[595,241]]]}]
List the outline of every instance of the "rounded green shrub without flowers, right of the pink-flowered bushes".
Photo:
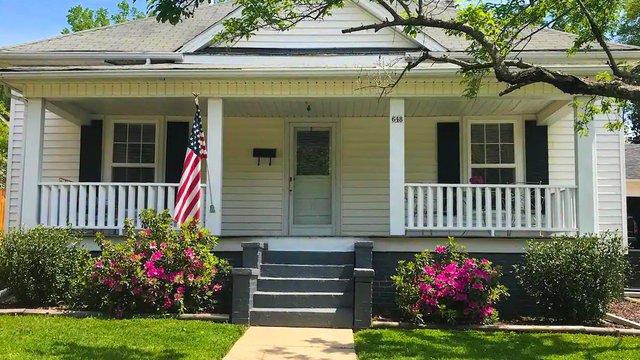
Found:
[{"label": "rounded green shrub without flowers, right of the pink-flowered bushes", "polygon": [[612,233],[531,240],[516,277],[546,318],[596,324],[624,292],[628,262],[622,243]]}]

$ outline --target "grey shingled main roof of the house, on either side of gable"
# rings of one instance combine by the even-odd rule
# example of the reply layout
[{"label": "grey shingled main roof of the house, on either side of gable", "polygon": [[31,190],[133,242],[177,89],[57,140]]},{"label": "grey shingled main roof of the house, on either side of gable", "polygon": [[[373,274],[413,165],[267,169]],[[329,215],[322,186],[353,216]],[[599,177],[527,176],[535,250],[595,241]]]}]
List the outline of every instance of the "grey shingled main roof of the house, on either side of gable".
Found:
[{"label": "grey shingled main roof of the house, on either side of gable", "polygon": [[[367,7],[375,6],[372,3],[355,3],[366,11]],[[178,52],[183,46],[202,39],[201,48],[206,48],[211,40],[212,30],[220,27],[221,20],[227,17],[236,6],[232,2],[218,3],[201,6],[195,12],[194,17],[184,19],[177,25],[158,23],[155,18],[130,21],[127,23],[106,26],[98,29],[81,31],[77,33],[61,35],[46,40],[35,41],[27,44],[0,48],[0,53],[11,52]],[[450,19],[455,17],[456,11],[452,8],[438,9],[433,13],[434,17]],[[328,20],[325,20],[328,21]],[[296,31],[293,29],[292,31]],[[461,37],[447,35],[441,29],[427,28],[423,32],[428,38],[434,40],[441,49],[447,51],[465,51],[469,42]],[[562,51],[570,48],[575,35],[561,31],[543,29],[532,36],[526,42],[524,51]],[[250,46],[251,41],[244,42],[244,46]],[[433,43],[431,43],[433,44]],[[523,44],[524,45],[524,44]],[[427,48],[434,49],[425,43]],[[416,48],[418,45],[416,45]],[[639,48],[611,44],[613,50],[637,50]]]}]

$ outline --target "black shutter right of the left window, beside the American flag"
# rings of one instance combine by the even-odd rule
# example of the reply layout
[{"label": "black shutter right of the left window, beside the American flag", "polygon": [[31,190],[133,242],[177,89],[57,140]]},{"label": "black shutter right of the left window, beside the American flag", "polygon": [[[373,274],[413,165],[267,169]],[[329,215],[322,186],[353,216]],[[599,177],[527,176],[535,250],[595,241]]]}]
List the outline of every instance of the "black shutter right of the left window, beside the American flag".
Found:
[{"label": "black shutter right of the left window, beside the American flag", "polygon": [[167,153],[165,158],[164,181],[179,183],[182,175],[184,156],[189,142],[189,123],[186,121],[167,122]]}]

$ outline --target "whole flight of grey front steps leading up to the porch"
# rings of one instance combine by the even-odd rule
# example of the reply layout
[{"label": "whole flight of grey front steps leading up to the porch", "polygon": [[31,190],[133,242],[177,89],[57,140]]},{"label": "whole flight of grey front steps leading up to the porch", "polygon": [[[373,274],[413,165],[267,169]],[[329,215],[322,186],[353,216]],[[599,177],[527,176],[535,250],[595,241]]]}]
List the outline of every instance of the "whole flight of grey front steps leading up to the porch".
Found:
[{"label": "whole flight of grey front steps leading up to the porch", "polygon": [[263,253],[251,325],[351,328],[353,253]]}]

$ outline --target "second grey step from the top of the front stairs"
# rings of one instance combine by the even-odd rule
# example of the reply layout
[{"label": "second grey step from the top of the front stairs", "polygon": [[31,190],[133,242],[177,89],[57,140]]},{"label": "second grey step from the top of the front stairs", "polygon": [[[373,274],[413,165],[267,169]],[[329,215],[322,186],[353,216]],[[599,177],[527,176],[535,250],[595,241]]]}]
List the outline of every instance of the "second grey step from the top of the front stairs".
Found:
[{"label": "second grey step from the top of the front stairs", "polygon": [[352,279],[353,265],[262,264],[260,276],[277,278]]}]

